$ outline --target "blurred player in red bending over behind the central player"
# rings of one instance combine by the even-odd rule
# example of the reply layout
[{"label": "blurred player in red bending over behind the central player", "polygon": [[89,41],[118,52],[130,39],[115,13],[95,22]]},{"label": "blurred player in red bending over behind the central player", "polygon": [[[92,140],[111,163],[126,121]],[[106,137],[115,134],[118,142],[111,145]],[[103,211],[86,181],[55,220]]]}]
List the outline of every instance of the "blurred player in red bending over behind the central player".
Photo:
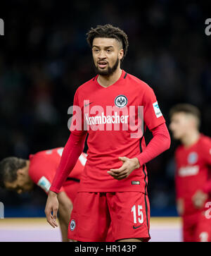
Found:
[{"label": "blurred player in red bending over behind the central player", "polygon": [[[59,147],[30,154],[28,160],[17,157],[3,159],[0,162],[0,186],[20,194],[33,190],[34,184],[36,184],[48,194],[62,152],[63,147]],[[64,242],[68,241],[70,213],[86,161],[87,154],[82,153],[58,193],[59,222]]]}]

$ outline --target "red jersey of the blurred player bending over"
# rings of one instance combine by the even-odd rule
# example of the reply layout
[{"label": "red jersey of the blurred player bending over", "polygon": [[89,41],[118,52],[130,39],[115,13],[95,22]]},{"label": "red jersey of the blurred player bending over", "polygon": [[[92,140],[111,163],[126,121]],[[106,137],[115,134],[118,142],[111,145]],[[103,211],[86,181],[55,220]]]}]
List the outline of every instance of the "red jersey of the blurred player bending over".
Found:
[{"label": "red jersey of the blurred player bending over", "polygon": [[[60,158],[63,153],[63,147],[58,147],[53,150],[45,150],[37,152],[36,154],[30,154],[30,169],[29,176],[32,181],[39,185],[46,193],[49,192],[51,183],[56,173],[56,169],[60,163]],[[79,180],[81,178],[84,165],[87,161],[87,154],[82,153],[72,169],[68,178],[70,180]],[[63,184],[65,186],[65,183]],[[60,189],[60,192],[64,188]]]}]

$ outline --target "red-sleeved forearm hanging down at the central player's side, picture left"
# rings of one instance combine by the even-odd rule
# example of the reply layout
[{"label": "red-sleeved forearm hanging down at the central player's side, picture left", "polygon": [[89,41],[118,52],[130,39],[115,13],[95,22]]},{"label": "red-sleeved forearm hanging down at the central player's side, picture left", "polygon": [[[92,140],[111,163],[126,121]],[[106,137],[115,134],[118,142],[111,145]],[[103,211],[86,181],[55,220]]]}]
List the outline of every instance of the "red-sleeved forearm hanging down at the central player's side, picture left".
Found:
[{"label": "red-sleeved forearm hanging down at the central player's side, picture left", "polygon": [[85,139],[86,135],[78,136],[72,133],[70,134],[70,138],[64,147],[60,164],[53,179],[53,183],[50,188],[51,191],[55,193],[59,192],[61,186],[68,178],[70,171],[72,171],[77,163],[77,159],[84,150]]}]

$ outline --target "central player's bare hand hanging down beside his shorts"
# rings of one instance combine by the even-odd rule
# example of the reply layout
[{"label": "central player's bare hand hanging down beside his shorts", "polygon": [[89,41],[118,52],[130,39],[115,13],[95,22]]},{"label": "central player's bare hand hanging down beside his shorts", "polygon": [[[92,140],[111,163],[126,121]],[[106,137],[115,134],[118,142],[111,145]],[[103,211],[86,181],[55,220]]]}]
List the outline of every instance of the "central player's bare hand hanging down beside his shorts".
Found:
[{"label": "central player's bare hand hanging down beside his shorts", "polygon": [[53,228],[58,226],[58,224],[56,223],[57,212],[58,212],[57,194],[54,193],[53,191],[49,191],[49,196],[46,202],[45,214],[46,214],[47,221],[51,226],[53,226]]}]

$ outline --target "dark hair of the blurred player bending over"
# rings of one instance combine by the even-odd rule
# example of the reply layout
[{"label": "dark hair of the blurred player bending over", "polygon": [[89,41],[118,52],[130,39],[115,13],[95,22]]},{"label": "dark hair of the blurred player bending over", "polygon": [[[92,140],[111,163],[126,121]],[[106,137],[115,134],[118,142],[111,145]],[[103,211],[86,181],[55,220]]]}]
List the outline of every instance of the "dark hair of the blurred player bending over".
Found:
[{"label": "dark hair of the blurred player bending over", "polygon": [[6,182],[13,182],[17,179],[18,169],[26,166],[26,160],[17,157],[7,157],[0,162],[0,187],[5,188]]}]

